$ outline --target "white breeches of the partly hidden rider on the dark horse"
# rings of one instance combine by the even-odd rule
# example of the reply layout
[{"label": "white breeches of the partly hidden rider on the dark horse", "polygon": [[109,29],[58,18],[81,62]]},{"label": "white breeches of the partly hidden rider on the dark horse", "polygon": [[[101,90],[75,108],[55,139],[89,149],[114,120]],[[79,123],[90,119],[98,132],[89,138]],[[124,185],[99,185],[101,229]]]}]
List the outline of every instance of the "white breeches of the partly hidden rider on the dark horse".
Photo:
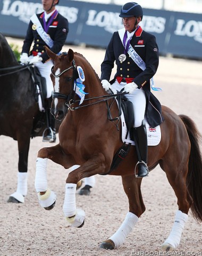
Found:
[{"label": "white breeches of the partly hidden rider on the dark horse", "polygon": [[53,92],[53,83],[50,77],[51,68],[53,67],[53,61],[49,60],[45,63],[38,62],[38,63],[35,63],[35,65],[38,67],[41,76],[46,78],[46,87],[47,87],[46,98],[48,99],[52,96],[52,92]]}]

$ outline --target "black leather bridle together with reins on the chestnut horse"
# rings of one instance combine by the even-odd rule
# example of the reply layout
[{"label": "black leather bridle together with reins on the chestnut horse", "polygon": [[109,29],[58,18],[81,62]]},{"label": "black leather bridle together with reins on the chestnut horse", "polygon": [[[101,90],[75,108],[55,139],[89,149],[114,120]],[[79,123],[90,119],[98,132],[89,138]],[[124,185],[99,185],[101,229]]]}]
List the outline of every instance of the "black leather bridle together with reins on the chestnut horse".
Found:
[{"label": "black leather bridle together with reins on the chestnut horse", "polygon": [[[67,54],[67,53],[64,53],[64,54]],[[82,106],[78,106],[78,107],[72,107],[72,105],[75,103],[75,102],[79,102],[79,100],[74,100],[74,95],[75,95],[75,89],[74,89],[74,84],[76,84],[76,77],[77,77],[77,69],[76,69],[76,65],[75,65],[75,61],[72,60],[72,66],[70,66],[69,68],[63,70],[60,74],[58,75],[55,75],[53,73],[53,68],[54,66],[52,67],[51,69],[51,73],[54,77],[60,77],[62,74],[64,74],[66,71],[70,70],[71,68],[73,68],[73,76],[72,77],[67,77],[67,79],[70,81],[72,78],[72,87],[71,87],[71,92],[69,95],[66,95],[66,94],[63,94],[63,93],[60,93],[60,92],[53,92],[53,98],[60,98],[60,99],[65,99],[66,102],[65,102],[65,105],[68,106],[68,109],[70,110],[76,110],[76,109],[79,109],[79,108],[83,108],[83,107],[87,107],[87,106],[91,106],[91,105],[94,105],[96,103],[99,103],[99,102],[102,102],[102,101],[107,101],[107,100],[110,100],[110,99],[114,99],[115,97],[119,96],[119,95],[123,95],[123,94],[128,94],[128,92],[120,92],[120,93],[117,93],[117,94],[112,94],[112,95],[103,95],[103,96],[98,96],[98,97],[93,97],[93,98],[88,98],[88,99],[84,99],[83,101],[86,101],[86,100],[94,100],[94,99],[100,99],[100,98],[104,98],[103,100],[98,100],[98,101],[95,101],[95,102],[92,102],[92,103],[89,103],[89,104],[86,104],[86,105],[82,105]],[[108,107],[107,105],[107,108],[110,112],[110,108]],[[121,114],[119,115],[119,117],[121,116]],[[114,121],[115,119],[118,119],[119,117],[116,117],[114,119],[112,119],[112,121]]]}]

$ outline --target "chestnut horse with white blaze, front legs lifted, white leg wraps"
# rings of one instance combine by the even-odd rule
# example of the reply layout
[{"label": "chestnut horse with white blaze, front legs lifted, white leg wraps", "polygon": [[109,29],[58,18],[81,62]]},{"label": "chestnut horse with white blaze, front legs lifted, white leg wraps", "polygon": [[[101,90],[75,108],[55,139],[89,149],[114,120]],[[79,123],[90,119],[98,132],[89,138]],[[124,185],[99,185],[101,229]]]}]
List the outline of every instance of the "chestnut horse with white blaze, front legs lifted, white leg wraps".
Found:
[{"label": "chestnut horse with white blaze, front legs lifted, white leg wraps", "polygon": [[[121,124],[116,125],[107,119],[107,105],[102,96],[106,94],[100,80],[89,62],[71,49],[60,56],[46,49],[54,61],[52,81],[54,94],[52,114],[63,119],[59,129],[60,143],[53,147],[39,150],[36,167],[35,188],[39,204],[51,210],[56,195],[47,186],[47,160],[64,166],[79,164],[66,179],[65,199],[63,205],[66,220],[73,227],[82,227],[85,212],[77,209],[75,186],[85,177],[95,174],[107,174],[111,169],[113,157],[122,145]],[[85,100],[79,105],[80,98],[75,94],[77,69],[81,67],[86,86]],[[108,105],[113,117],[119,116],[119,110],[108,95]],[[181,234],[191,209],[193,217],[202,221],[202,161],[199,149],[200,134],[195,123],[185,115],[176,115],[171,109],[162,106],[165,118],[161,124],[162,138],[157,146],[148,147],[148,167],[152,171],[158,164],[166,173],[167,179],[178,198],[173,228],[163,243],[162,250],[176,249],[180,244]],[[129,200],[129,212],[120,228],[100,245],[103,249],[115,249],[124,243],[127,235],[144,213],[145,205],[141,195],[141,180],[134,175],[138,159],[134,146],[128,155],[114,169],[111,175],[121,175],[123,188]]]}]

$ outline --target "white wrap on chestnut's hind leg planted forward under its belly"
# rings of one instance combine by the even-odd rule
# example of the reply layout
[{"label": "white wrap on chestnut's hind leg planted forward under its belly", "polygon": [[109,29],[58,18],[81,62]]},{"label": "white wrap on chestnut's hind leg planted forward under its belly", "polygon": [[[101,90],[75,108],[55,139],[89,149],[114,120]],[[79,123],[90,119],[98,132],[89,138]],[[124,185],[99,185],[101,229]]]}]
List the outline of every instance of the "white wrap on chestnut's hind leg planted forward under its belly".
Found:
[{"label": "white wrap on chestnut's hind leg planted forward under its belly", "polygon": [[136,223],[138,222],[138,217],[132,212],[128,212],[120,228],[114,233],[110,239],[114,242],[115,248],[119,248],[125,241],[125,238],[132,231]]}]

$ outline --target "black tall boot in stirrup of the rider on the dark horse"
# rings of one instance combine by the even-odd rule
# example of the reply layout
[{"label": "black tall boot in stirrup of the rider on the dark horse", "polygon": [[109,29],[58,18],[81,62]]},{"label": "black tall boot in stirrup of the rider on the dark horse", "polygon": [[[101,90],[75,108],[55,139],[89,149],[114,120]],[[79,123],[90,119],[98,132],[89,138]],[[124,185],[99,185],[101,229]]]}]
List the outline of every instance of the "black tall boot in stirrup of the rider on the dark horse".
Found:
[{"label": "black tall boot in stirrup of the rider on the dark horse", "polygon": [[[47,99],[47,102],[52,102],[51,100]],[[49,104],[50,106],[51,104]],[[51,114],[51,108],[46,108],[46,119],[47,119],[47,128],[44,130],[43,133],[43,141],[45,142],[55,142],[56,141],[56,129],[55,129],[55,117]]]}]

